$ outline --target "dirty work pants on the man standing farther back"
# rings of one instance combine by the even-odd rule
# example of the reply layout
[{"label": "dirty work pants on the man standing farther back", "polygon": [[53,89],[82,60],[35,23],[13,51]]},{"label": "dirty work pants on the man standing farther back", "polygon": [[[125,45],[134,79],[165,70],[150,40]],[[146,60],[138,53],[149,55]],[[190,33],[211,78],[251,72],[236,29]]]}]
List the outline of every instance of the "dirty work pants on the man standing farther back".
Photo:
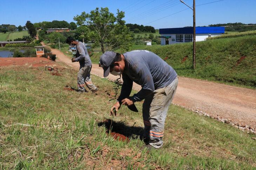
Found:
[{"label": "dirty work pants on the man standing farther back", "polygon": [[97,87],[94,86],[92,80],[90,79],[90,72],[92,69],[92,65],[84,66],[79,69],[78,72],[78,90],[85,91],[85,84],[89,90],[95,90]]}]

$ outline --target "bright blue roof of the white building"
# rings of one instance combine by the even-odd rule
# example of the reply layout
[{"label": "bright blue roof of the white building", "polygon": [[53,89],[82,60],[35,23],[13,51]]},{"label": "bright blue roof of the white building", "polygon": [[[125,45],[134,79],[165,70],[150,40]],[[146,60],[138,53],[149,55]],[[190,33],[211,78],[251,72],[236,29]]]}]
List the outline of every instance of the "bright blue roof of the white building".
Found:
[{"label": "bright blue roof of the white building", "polygon": [[[224,33],[225,27],[196,27],[196,34]],[[193,34],[193,27],[160,28],[159,34]]]}]

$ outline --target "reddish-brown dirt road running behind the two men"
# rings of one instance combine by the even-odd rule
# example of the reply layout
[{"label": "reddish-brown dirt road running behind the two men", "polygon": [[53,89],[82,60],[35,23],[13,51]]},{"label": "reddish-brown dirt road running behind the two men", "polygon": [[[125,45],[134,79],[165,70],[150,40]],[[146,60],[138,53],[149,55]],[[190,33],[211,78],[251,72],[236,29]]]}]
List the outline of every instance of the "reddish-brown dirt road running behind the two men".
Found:
[{"label": "reddish-brown dirt road running behind the two men", "polygon": [[[59,50],[52,49],[52,52],[57,55],[57,61],[79,68],[79,62],[72,63],[71,59]],[[103,69],[93,64],[91,74],[103,77]],[[115,80],[116,77],[110,75],[109,79]],[[138,84],[134,84],[133,88],[141,89]],[[211,117],[226,118],[233,123],[256,128],[256,90],[178,77],[178,88],[173,103],[202,111]]]}]

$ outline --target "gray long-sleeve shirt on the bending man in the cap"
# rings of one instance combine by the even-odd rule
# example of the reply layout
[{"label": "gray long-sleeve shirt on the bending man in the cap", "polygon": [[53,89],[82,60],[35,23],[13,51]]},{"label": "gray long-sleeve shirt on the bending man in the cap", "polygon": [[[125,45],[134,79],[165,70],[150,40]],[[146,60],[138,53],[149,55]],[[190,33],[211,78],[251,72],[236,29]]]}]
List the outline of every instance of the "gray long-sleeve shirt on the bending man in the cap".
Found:
[{"label": "gray long-sleeve shirt on the bending man in the cap", "polygon": [[133,102],[142,101],[154,90],[168,86],[176,78],[177,73],[155,53],[147,50],[135,50],[123,54],[126,62],[122,73],[123,86],[117,101],[129,97],[133,81],[140,84],[142,89],[134,94]]}]

